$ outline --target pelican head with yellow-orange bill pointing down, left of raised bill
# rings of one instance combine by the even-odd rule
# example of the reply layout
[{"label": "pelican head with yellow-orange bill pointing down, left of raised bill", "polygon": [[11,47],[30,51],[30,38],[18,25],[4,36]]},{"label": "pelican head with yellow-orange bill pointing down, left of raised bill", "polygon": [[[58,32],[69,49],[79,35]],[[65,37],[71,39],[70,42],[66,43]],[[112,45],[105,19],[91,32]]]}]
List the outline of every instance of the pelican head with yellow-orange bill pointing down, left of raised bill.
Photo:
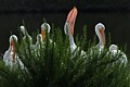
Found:
[{"label": "pelican head with yellow-orange bill pointing down, left of raised bill", "polygon": [[48,23],[43,23],[41,25],[41,35],[42,35],[42,40],[46,39],[46,32],[50,33],[51,26]]}]

